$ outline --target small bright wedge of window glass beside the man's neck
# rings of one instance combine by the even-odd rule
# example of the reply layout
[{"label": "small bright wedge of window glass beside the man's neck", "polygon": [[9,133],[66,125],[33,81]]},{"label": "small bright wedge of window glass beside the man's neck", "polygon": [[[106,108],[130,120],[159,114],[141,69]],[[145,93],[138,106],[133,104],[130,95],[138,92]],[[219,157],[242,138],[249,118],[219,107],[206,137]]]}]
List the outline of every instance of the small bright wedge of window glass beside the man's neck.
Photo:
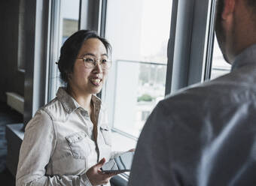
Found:
[{"label": "small bright wedge of window glass beside the man's neck", "polygon": [[231,65],[224,60],[224,57],[221,53],[221,49],[218,46],[218,41],[215,37],[215,45],[214,45],[213,55],[212,55],[211,79],[214,79],[216,77],[220,77],[224,74],[229,73],[230,68],[231,68]]}]

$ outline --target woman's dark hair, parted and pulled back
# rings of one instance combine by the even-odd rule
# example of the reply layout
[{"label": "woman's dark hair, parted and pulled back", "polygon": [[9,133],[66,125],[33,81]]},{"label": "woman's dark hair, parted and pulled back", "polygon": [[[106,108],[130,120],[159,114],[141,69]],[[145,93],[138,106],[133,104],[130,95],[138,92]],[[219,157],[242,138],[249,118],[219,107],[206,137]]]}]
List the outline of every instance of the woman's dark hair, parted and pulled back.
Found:
[{"label": "woman's dark hair, parted and pulled back", "polygon": [[65,41],[65,43],[63,43],[60,49],[58,68],[60,78],[63,82],[69,82],[69,74],[73,71],[78,52],[84,41],[89,38],[97,38],[101,40],[107,50],[107,53],[111,53],[111,45],[108,43],[108,40],[100,37],[96,31],[80,30],[75,32]]}]

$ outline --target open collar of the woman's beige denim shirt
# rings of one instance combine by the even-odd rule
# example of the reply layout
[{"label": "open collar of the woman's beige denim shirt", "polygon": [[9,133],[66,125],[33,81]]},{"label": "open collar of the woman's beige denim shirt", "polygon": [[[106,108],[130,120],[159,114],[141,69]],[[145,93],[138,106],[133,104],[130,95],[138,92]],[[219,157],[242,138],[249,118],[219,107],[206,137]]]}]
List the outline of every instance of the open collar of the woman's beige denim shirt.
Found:
[{"label": "open collar of the woman's beige denim shirt", "polygon": [[[75,99],[72,98],[72,96],[70,96],[66,92],[66,88],[64,87],[60,87],[58,89],[56,97],[62,103],[62,106],[65,108],[65,110],[69,114],[72,113],[74,110],[77,110],[78,108],[82,108],[80,104],[78,104],[78,102],[75,101]],[[100,101],[99,98],[96,97],[96,95],[92,95],[92,101],[93,101],[93,104],[96,105],[96,107],[100,108],[102,102]]]}]

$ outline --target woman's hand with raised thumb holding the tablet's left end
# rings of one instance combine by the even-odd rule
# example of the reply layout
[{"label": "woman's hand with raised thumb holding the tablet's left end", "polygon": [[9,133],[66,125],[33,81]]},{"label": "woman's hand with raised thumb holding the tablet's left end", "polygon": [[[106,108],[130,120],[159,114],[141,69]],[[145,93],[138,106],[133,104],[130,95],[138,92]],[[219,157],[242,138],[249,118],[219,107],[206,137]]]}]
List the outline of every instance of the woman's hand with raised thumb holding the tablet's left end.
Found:
[{"label": "woman's hand with raised thumb holding the tablet's left end", "polygon": [[104,163],[105,158],[103,157],[99,163],[96,163],[96,165],[90,167],[90,169],[88,169],[86,172],[87,178],[89,178],[89,181],[93,186],[107,184],[112,176],[117,175],[117,173],[103,173],[100,168]]}]

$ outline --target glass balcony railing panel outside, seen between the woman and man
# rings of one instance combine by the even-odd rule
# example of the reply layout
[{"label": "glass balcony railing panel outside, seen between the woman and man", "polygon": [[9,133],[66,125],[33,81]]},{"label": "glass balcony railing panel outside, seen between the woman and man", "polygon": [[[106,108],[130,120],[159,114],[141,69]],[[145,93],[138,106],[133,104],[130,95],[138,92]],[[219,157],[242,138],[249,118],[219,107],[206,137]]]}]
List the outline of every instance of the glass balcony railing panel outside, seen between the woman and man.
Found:
[{"label": "glass balcony railing panel outside, seen between the woman and man", "polygon": [[114,127],[139,136],[151,110],[164,98],[166,64],[117,60],[116,65]]}]

